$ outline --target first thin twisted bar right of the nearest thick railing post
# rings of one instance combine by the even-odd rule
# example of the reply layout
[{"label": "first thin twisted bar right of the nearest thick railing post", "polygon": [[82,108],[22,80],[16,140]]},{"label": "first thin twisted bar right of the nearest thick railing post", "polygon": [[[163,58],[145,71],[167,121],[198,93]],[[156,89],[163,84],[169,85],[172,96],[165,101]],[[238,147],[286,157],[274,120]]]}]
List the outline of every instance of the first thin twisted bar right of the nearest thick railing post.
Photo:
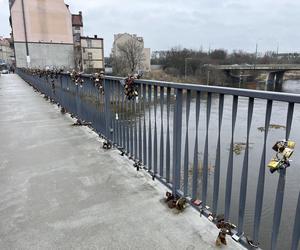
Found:
[{"label": "first thin twisted bar right of the nearest thick railing post", "polygon": [[185,109],[185,150],[184,150],[184,171],[183,171],[183,194],[188,195],[188,181],[189,181],[189,119],[191,108],[191,91],[188,90],[186,94],[186,109]]}]

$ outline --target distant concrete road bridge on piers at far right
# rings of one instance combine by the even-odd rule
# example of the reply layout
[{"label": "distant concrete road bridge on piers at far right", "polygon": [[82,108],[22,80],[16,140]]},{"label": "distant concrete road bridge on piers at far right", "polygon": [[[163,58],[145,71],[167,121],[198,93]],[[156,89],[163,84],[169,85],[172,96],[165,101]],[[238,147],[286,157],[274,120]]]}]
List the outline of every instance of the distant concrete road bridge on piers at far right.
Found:
[{"label": "distant concrete road bridge on piers at far right", "polygon": [[234,65],[209,65],[209,67],[223,70],[231,76],[231,71],[239,70],[241,81],[242,71],[267,71],[266,84],[281,84],[286,71],[300,71],[300,64],[234,64]]}]

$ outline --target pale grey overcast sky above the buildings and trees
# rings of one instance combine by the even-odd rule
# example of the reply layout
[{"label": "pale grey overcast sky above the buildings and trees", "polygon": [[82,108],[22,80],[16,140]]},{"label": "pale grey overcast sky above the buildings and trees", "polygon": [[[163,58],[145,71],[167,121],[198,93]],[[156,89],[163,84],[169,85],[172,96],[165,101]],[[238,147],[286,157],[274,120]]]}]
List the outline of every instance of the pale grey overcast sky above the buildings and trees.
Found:
[{"label": "pale grey overcast sky above the buildings and trees", "polygon": [[[48,0],[51,1],[51,0]],[[65,0],[83,12],[84,34],[135,33],[153,50],[181,46],[300,52],[300,0]],[[8,0],[0,0],[0,36],[7,36]]]}]

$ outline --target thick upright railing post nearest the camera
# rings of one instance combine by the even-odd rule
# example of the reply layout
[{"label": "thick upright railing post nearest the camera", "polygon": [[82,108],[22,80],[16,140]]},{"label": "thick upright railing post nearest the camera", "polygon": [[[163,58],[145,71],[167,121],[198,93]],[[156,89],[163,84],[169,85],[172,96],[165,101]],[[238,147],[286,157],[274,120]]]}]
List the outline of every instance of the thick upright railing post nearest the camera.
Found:
[{"label": "thick upright railing post nearest the camera", "polygon": [[173,194],[180,188],[181,168],[181,133],[182,133],[182,89],[176,90],[176,103],[173,125]]}]

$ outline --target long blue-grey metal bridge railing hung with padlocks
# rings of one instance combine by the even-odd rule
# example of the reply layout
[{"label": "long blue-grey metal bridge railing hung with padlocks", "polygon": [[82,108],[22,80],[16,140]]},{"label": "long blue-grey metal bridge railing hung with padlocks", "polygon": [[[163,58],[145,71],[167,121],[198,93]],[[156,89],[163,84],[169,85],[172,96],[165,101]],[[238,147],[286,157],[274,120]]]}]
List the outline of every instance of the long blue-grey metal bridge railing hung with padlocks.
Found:
[{"label": "long blue-grey metal bridge railing hung with padlocks", "polygon": [[[103,93],[90,76],[74,84],[67,74],[54,80],[20,69],[18,74],[69,113],[91,122],[97,133],[141,162],[173,194],[187,197],[201,214],[224,213],[226,220],[236,222],[235,234],[247,247],[251,241],[246,235],[252,236],[254,244],[267,242],[263,247],[280,245],[283,208],[293,206],[284,240],[297,249],[299,190],[293,187],[289,204],[284,194],[287,172],[295,176],[299,166],[296,161],[272,175],[266,163],[276,140],[290,139],[291,132],[297,139],[293,131],[299,114],[294,110],[299,108],[300,95],[136,80],[138,97],[129,100],[118,77],[105,77]],[[283,121],[285,129],[270,134],[275,127],[272,119]],[[273,201],[267,203],[265,197]]]}]

